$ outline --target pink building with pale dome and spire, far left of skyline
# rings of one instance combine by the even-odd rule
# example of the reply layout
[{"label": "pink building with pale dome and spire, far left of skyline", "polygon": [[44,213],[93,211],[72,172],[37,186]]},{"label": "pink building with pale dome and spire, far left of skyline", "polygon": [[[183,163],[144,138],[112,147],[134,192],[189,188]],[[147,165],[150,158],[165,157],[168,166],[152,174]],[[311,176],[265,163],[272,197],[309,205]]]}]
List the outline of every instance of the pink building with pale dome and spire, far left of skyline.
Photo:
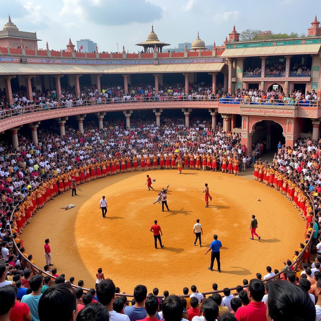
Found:
[{"label": "pink building with pale dome and spire, far left of skyline", "polygon": [[23,44],[24,48],[38,49],[36,32],[19,31],[18,27],[11,21],[10,15],[8,22],[0,30],[0,47],[17,48]]}]

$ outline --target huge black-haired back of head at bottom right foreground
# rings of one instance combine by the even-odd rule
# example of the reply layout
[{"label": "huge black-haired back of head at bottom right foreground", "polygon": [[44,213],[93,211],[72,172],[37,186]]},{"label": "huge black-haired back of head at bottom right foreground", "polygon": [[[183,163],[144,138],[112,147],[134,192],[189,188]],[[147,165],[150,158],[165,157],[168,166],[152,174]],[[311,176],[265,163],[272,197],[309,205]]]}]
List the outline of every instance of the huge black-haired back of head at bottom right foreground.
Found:
[{"label": "huge black-haired back of head at bottom right foreground", "polygon": [[267,299],[268,321],[314,321],[316,309],[308,293],[286,281],[273,281]]}]

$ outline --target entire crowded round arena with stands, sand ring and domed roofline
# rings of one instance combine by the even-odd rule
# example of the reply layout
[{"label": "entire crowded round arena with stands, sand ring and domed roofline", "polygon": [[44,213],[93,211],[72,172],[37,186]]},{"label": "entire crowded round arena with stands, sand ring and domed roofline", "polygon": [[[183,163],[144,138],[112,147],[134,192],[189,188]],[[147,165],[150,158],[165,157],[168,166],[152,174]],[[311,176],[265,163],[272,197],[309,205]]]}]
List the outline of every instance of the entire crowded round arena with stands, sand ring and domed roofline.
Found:
[{"label": "entire crowded round arena with stands, sand ring and domed roofline", "polygon": [[321,321],[310,24],[167,52],[152,24],[109,53],[39,49],[9,16],[0,320]]}]

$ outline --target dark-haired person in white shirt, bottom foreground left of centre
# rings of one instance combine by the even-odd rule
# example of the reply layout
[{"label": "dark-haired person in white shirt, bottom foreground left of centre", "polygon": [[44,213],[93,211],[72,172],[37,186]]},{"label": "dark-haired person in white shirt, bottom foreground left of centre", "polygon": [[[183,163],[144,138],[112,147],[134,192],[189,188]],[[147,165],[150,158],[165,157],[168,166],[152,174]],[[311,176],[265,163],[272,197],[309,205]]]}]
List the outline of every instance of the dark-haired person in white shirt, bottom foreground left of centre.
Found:
[{"label": "dark-haired person in white shirt, bottom foreground left of centre", "polygon": [[113,303],[116,298],[115,290],[116,287],[112,280],[106,279],[100,281],[96,288],[98,300],[107,308],[109,321],[129,321],[129,317],[126,316],[126,314],[121,314],[113,310]]}]

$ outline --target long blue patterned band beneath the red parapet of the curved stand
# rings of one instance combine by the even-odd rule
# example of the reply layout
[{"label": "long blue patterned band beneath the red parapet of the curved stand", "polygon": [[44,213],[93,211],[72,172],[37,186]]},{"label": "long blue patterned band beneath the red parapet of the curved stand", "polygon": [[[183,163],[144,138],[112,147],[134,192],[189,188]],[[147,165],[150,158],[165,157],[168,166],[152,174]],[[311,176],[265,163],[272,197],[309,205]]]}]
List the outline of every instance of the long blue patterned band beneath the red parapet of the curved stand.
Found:
[{"label": "long blue patterned band beneath the red parapet of the curved stand", "polygon": [[[197,59],[154,59],[154,60],[78,60],[78,59],[37,59],[25,58],[27,63],[33,64],[73,64],[73,65],[154,65],[157,64],[200,64],[220,63],[223,58]],[[20,58],[0,57],[0,62],[20,62]]]}]

